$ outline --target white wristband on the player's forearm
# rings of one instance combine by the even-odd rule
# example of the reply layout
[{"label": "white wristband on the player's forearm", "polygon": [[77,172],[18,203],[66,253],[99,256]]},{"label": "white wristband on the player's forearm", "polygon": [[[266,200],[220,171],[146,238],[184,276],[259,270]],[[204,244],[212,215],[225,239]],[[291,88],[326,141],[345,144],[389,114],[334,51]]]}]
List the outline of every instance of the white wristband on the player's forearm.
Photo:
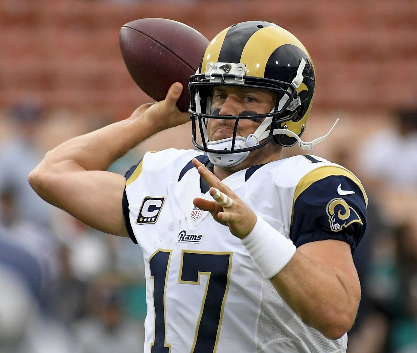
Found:
[{"label": "white wristband on the player's forearm", "polygon": [[296,247],[258,216],[255,227],[241,240],[265,278],[274,277],[294,256]]}]

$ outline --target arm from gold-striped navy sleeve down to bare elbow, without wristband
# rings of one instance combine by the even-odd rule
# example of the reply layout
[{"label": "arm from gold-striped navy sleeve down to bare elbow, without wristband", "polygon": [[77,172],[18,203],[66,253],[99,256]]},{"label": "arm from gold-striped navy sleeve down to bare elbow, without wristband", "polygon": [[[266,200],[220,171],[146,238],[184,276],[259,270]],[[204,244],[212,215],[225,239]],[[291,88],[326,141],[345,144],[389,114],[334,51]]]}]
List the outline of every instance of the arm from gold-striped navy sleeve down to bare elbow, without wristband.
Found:
[{"label": "arm from gold-striped navy sleeve down to bare elbow, without wristband", "polygon": [[347,332],[356,317],[361,293],[352,252],[365,231],[366,205],[362,184],[346,169],[324,166],[306,174],[292,213],[297,251],[271,278],[304,323],[329,338]]}]

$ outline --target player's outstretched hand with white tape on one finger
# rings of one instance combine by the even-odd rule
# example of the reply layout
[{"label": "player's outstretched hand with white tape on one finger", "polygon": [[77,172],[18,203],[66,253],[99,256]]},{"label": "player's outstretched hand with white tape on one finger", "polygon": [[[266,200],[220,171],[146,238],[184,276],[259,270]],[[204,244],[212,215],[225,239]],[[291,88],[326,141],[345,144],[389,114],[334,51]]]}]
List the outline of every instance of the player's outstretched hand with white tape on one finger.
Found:
[{"label": "player's outstretched hand with white tape on one finger", "polygon": [[[255,226],[256,214],[228,186],[223,184],[219,178],[209,171],[204,164],[194,158],[193,165],[210,186],[210,195],[216,200],[210,201],[196,197],[193,200],[194,206],[210,212],[217,222],[229,227],[230,232],[234,236],[240,239],[246,237]],[[216,195],[216,189],[219,190],[217,193],[219,196]],[[230,207],[227,207],[227,204],[230,204],[230,199],[232,204]],[[219,203],[223,204],[223,206]]]}]

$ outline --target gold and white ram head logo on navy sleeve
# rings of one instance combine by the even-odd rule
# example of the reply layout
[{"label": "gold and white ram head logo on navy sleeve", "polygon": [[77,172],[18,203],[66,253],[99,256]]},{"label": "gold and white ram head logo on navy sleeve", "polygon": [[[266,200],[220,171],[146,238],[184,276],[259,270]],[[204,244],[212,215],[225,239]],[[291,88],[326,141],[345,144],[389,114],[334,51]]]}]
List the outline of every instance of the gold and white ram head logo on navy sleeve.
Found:
[{"label": "gold and white ram head logo on navy sleeve", "polygon": [[363,224],[359,214],[340,197],[329,201],[326,212],[333,232],[338,232],[354,222]]}]

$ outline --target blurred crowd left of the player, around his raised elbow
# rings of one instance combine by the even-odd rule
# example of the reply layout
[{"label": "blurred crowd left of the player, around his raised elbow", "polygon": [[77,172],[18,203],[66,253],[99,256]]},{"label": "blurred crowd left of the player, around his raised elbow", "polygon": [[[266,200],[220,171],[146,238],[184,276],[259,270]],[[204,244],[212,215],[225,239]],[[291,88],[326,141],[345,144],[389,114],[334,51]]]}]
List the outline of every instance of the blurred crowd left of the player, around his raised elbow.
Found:
[{"label": "blurred crowd left of the player, around his raised elbow", "polygon": [[[28,173],[52,144],[109,123],[76,123],[33,102],[4,112],[0,138],[0,352],[141,352],[143,258],[128,238],[97,232],[44,202]],[[46,144],[45,144],[46,143]],[[135,153],[112,166],[124,174]]]}]

